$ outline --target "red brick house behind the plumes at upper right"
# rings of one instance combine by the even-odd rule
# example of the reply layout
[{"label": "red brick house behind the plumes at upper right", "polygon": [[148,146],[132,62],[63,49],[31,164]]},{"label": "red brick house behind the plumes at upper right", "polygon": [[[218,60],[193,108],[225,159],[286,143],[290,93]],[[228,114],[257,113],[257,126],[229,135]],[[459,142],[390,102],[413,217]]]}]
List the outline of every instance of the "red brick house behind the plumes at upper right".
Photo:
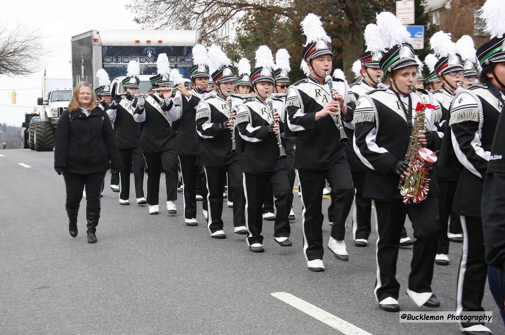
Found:
[{"label": "red brick house behind the plumes at upper right", "polygon": [[489,40],[484,32],[485,22],[479,17],[485,0],[424,0],[423,6],[430,16],[429,25],[452,34],[456,42],[463,35],[470,35],[475,48]]}]

